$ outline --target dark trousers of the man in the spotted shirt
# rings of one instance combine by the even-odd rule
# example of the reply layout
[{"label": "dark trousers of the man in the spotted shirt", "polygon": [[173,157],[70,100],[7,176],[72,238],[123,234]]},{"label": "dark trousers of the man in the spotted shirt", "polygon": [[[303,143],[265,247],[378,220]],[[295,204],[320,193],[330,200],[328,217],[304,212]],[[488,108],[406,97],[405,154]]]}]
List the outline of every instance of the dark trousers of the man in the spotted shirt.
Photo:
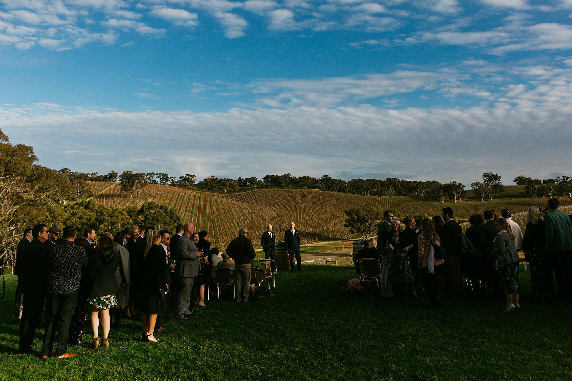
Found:
[{"label": "dark trousers of the man in the spotted shirt", "polygon": [[[67,353],[67,339],[76,308],[78,292],[64,295],[48,294],[46,298],[46,331],[43,334],[42,356],[49,354],[54,348],[55,331],[58,331],[58,347],[56,356]],[[59,325],[59,329],[58,329]]]}]

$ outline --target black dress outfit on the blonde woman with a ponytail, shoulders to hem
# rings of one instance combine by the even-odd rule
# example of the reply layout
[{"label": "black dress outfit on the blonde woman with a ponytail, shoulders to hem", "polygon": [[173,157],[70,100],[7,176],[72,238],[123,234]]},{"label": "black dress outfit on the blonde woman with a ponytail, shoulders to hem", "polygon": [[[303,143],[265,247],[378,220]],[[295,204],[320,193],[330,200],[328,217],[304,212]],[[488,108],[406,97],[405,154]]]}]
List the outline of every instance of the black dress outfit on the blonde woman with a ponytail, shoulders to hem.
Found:
[{"label": "black dress outfit on the blonde woman with a ponytail, shoulders to hem", "polygon": [[141,299],[139,309],[151,315],[162,312],[161,289],[166,290],[165,272],[169,265],[165,261],[165,250],[160,245],[153,245],[140,263]]}]

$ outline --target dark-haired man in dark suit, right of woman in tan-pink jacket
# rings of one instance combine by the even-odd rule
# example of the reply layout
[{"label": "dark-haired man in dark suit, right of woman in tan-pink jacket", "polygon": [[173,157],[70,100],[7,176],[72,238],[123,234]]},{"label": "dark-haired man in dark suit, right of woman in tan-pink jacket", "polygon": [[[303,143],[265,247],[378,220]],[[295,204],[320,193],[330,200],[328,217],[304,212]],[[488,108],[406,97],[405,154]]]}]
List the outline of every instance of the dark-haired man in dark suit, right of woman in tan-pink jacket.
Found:
[{"label": "dark-haired man in dark suit, right of woman in tan-pink jacket", "polygon": [[461,257],[463,229],[453,220],[453,209],[443,208],[445,225],[441,233],[441,246],[445,249],[445,271],[447,273],[447,297],[459,299],[463,277],[461,276]]}]

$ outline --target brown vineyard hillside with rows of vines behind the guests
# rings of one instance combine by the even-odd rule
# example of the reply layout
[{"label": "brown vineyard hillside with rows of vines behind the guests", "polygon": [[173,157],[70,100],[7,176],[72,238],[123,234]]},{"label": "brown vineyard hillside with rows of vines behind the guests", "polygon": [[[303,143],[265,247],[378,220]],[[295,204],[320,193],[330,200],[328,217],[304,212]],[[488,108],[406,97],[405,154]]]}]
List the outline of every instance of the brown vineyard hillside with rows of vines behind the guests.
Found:
[{"label": "brown vineyard hillside with rows of vines behind the guests", "polygon": [[[507,199],[520,196],[519,187],[507,186],[505,194],[493,201],[469,200],[460,203],[440,204],[424,197],[374,197],[349,193],[324,192],[314,189],[257,189],[240,193],[209,193],[184,190],[168,185],[147,185],[140,197],[130,198],[119,192],[119,184],[94,182],[92,192],[101,192],[93,200],[113,207],[140,207],[145,201],[175,208],[183,221],[190,221],[197,231],[209,232],[209,239],[217,247],[225,248],[237,236],[239,227],[247,227],[255,246],[260,246],[260,236],[267,224],[272,224],[279,237],[291,221],[300,229],[303,243],[351,239],[355,236],[344,228],[348,208],[369,204],[384,211],[397,209],[403,216],[427,213],[440,215],[445,206],[452,207],[455,216],[468,217],[486,209],[510,208],[513,213],[525,212],[531,205],[544,207],[546,199]],[[106,189],[107,188],[107,189]],[[513,189],[514,188],[514,189]],[[563,205],[570,200],[562,199]]]}]

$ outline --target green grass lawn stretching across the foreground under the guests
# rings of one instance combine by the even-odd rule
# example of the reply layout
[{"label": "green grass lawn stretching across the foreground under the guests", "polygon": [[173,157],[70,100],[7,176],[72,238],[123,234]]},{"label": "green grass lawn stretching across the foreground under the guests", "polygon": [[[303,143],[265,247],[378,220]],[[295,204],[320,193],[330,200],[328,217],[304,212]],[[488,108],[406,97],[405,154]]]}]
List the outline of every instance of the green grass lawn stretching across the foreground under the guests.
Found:
[{"label": "green grass lawn stretching across the foreground under the guests", "polygon": [[[15,277],[6,276],[0,379],[572,379],[572,308],[531,304],[530,272],[521,272],[521,311],[506,314],[488,294],[464,293],[440,309],[427,308],[424,296],[408,304],[379,293],[341,296],[341,280],[355,277],[352,266],[304,269],[279,273],[271,300],[205,300],[185,322],[169,310],[159,343],[141,342],[140,323],[122,320],[109,348],[70,347],[78,355],[69,360],[17,353]],[[38,330],[34,346],[42,335]]]}]

